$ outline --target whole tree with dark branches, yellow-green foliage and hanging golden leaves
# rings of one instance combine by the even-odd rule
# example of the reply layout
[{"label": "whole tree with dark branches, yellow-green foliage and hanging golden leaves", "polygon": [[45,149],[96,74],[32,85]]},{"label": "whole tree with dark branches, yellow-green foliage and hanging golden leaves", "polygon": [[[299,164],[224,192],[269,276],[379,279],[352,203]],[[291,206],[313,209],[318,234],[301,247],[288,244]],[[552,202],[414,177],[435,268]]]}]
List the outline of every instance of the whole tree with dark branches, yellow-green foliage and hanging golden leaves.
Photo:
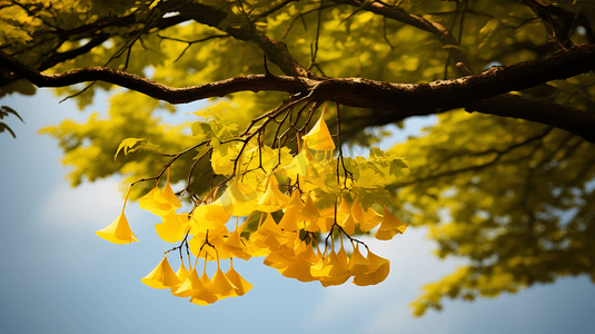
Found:
[{"label": "whole tree with dark branches, yellow-green foliage and hanging golden leaves", "polygon": [[[180,256],[267,255],[287,277],[368,285],[388,264],[357,235],[428,226],[438,256],[468,264],[425,287],[422,315],[444,297],[595,281],[594,20],[576,0],[7,0],[0,97],[56,87],[83,108],[109,91],[107,118],[42,132],[73,186],[126,176],[127,199],[162,217]],[[196,121],[160,121],[202,99]],[[425,115],[438,121],[422,137],[344,154]],[[132,242],[127,225],[122,209],[98,234]],[[249,289],[231,265],[198,294],[208,277],[189,266],[176,274],[166,256],[143,282],[197,304]]]}]

